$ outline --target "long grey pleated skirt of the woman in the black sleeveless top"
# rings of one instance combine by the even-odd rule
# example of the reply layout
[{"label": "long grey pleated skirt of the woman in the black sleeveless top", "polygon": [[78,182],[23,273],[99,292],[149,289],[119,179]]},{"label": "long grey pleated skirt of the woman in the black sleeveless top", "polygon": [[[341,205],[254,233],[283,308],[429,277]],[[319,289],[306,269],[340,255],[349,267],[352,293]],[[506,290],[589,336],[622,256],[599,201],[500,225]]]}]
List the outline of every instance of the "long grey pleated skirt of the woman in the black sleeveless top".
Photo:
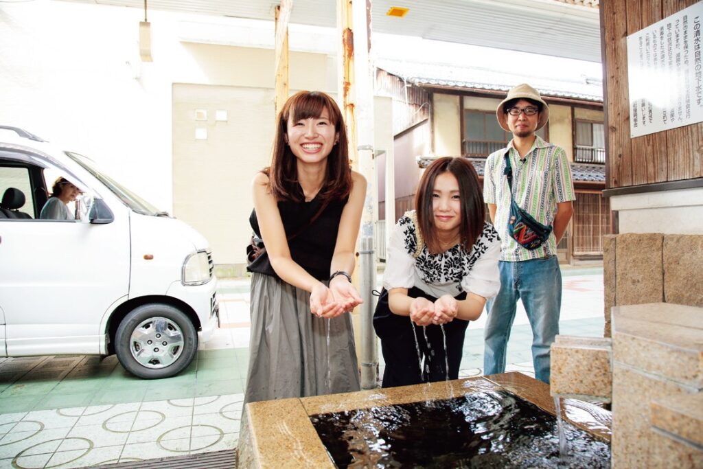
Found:
[{"label": "long grey pleated skirt of the woman in the black sleeveless top", "polygon": [[250,316],[244,404],[360,389],[351,315],[318,318],[307,291],[254,272]]}]

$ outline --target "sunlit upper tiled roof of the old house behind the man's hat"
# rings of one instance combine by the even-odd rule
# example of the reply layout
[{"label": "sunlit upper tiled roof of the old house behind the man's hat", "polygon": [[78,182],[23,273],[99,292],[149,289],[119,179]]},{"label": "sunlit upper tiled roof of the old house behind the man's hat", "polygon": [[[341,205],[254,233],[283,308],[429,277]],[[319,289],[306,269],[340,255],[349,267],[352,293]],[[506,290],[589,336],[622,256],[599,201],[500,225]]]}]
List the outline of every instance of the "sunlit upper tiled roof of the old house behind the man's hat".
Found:
[{"label": "sunlit upper tiled roof of the old house behind the man's hat", "polygon": [[600,78],[553,78],[517,75],[486,68],[458,67],[430,63],[409,63],[396,60],[376,60],[375,66],[415,85],[449,86],[456,89],[485,89],[507,91],[520,83],[529,83],[542,96],[581,99],[602,103]]}]

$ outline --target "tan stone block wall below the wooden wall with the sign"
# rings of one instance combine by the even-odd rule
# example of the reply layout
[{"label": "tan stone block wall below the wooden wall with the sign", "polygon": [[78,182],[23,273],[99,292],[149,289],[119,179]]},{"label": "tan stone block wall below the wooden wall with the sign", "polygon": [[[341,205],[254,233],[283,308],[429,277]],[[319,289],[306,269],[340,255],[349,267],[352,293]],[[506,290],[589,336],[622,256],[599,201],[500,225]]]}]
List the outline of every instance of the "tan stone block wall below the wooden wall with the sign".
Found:
[{"label": "tan stone block wall below the wooden wall with the sign", "polygon": [[603,245],[605,330],[614,306],[676,303],[703,307],[703,235],[624,233]]}]

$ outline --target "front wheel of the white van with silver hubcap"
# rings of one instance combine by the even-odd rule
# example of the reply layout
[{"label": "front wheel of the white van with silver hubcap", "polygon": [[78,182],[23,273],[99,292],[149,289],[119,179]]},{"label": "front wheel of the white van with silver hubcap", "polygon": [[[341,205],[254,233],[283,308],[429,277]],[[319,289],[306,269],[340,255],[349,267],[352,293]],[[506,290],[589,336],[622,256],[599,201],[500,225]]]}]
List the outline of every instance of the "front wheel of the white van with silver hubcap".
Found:
[{"label": "front wheel of the white van with silver hubcap", "polygon": [[168,378],[186,368],[198,350],[198,331],[168,304],[143,304],[122,319],[115,334],[120,364],[139,378]]}]

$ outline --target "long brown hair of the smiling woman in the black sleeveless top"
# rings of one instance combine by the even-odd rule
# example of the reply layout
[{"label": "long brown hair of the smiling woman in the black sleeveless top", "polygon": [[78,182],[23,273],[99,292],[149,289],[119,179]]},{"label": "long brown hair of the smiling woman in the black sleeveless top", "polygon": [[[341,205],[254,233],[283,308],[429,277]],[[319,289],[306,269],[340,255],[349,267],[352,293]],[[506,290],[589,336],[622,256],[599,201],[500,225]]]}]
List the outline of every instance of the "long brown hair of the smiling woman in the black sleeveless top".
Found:
[{"label": "long brown hair of the smiling woman in the black sleeveless top", "polygon": [[352,191],[352,169],[349,168],[349,144],[344,118],[337,103],[321,91],[299,91],[285,102],[276,122],[276,139],[273,143],[271,166],[264,169],[269,176],[269,189],[276,200],[302,202],[297,188],[297,158],[285,142],[288,133],[288,120],[297,122],[310,117],[318,118],[323,110],[330,115],[330,122],[340,139],[327,157],[327,174],[320,194],[325,202],[342,199]]}]

